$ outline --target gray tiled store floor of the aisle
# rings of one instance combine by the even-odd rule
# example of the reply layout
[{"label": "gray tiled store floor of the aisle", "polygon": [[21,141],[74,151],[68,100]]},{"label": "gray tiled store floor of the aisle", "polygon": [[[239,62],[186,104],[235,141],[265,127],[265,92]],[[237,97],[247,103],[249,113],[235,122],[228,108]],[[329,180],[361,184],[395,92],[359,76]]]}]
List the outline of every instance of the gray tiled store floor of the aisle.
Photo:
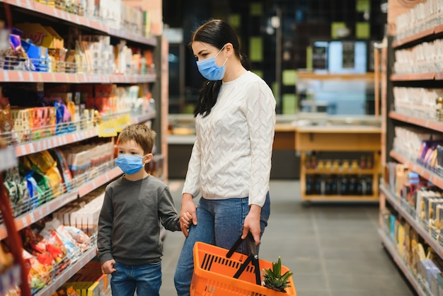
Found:
[{"label": "gray tiled store floor of the aisle", "polygon": [[[180,208],[182,181],[170,181]],[[412,296],[382,246],[378,205],[311,203],[299,198],[296,181],[271,181],[271,215],[259,257],[282,258],[294,272],[298,296]],[[183,244],[181,232],[167,232],[162,296],[176,295],[173,274]]]}]

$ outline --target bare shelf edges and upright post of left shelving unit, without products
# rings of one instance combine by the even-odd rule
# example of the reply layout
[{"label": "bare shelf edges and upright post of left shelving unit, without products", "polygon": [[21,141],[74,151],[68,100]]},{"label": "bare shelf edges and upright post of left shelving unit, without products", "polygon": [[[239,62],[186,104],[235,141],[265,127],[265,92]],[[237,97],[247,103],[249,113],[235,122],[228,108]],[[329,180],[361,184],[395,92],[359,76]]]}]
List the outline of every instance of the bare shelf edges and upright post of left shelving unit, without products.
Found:
[{"label": "bare shelf edges and upright post of left shelving unit, without products", "polygon": [[[131,45],[137,45],[143,49],[151,49],[154,52],[154,62],[157,68],[152,67],[147,70],[147,74],[142,75],[123,75],[123,74],[70,74],[70,73],[51,73],[51,72],[31,72],[31,71],[17,71],[6,70],[0,71],[0,83],[1,84],[13,84],[13,83],[57,83],[57,84],[153,84],[151,89],[153,97],[156,99],[155,108],[151,108],[148,113],[122,113],[116,114],[117,117],[123,115],[130,115],[130,123],[146,123],[152,121],[152,128],[156,130],[157,138],[159,141],[164,141],[166,137],[167,123],[162,118],[165,118],[164,113],[167,113],[167,108],[164,110],[162,106],[167,106],[162,102],[165,100],[163,89],[168,89],[167,79],[164,79],[164,73],[167,73],[167,59],[165,59],[164,48],[167,48],[162,42],[166,42],[160,37],[146,37],[137,33],[115,29],[100,21],[98,19],[86,18],[84,16],[74,15],[66,11],[59,10],[52,6],[38,3],[33,0],[0,0],[0,5],[10,4],[11,11],[18,16],[32,15],[34,20],[42,19],[45,23],[53,23],[59,26],[74,26],[81,30],[86,30],[91,33],[100,35],[108,35],[112,40],[125,40],[130,42]],[[18,17],[16,20],[23,21]],[[158,52],[158,48],[163,48],[161,53]],[[154,50],[155,49],[155,50]],[[164,62],[166,60],[166,63]],[[165,66],[166,64],[166,66]],[[165,68],[166,67],[166,68]],[[161,84],[161,85],[157,85]],[[158,112],[156,112],[156,110]],[[103,120],[106,121],[108,115],[103,115]],[[30,131],[32,132],[32,131]],[[2,135],[0,135],[1,137]],[[7,135],[3,135],[7,136]],[[64,145],[74,144],[83,140],[88,140],[93,137],[100,136],[99,127],[91,127],[87,130],[76,130],[75,132],[69,132],[62,135],[52,135],[51,137],[45,137],[39,140],[31,140],[29,142],[22,142],[15,146],[6,147],[0,149],[0,172],[10,169],[18,165],[17,157],[33,154],[35,152],[41,152],[47,149],[60,147]],[[156,155],[157,158],[164,159],[167,157],[165,154],[166,149],[161,149],[161,145],[158,145],[158,152],[161,155]],[[102,164],[99,168],[103,169],[96,175],[95,178],[88,177],[85,180],[76,182],[73,181],[73,186],[67,190],[64,188],[64,193],[47,200],[38,207],[28,210],[22,215],[13,219],[13,226],[16,230],[28,227],[30,224],[41,220],[52,212],[64,207],[71,201],[81,198],[93,190],[96,190],[100,186],[103,186],[110,181],[113,181],[118,176],[121,176],[122,171],[115,166],[113,161],[107,164]],[[78,181],[78,180],[77,180]],[[3,183],[0,183],[3,186]],[[5,220],[6,221],[6,220]],[[8,233],[5,224],[0,224],[0,240],[10,239],[11,233]],[[16,251],[20,251],[20,246],[13,244],[13,248]],[[52,278],[51,282],[42,290],[36,292],[35,295],[52,295],[61,285],[63,285],[74,273],[79,271],[88,261],[96,256],[95,242],[91,249],[85,251],[79,258],[71,261],[69,266],[65,268],[59,275]],[[0,273],[0,295],[9,289],[21,283],[21,273],[25,269],[21,266],[15,265],[10,270]],[[22,277],[23,278],[23,277]],[[23,283],[23,281],[22,281]]]}]

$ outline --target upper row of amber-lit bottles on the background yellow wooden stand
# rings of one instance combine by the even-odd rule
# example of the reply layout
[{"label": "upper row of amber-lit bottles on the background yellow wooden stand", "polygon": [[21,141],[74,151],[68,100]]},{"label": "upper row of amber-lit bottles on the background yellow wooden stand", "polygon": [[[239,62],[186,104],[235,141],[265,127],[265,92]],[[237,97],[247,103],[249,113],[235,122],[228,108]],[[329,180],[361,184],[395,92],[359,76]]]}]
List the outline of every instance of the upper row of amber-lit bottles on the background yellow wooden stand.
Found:
[{"label": "upper row of amber-lit bottles on the background yellow wooden stand", "polygon": [[372,158],[360,156],[360,159],[317,159],[315,155],[306,156],[304,164],[306,169],[318,171],[358,171],[359,169],[372,169]]}]

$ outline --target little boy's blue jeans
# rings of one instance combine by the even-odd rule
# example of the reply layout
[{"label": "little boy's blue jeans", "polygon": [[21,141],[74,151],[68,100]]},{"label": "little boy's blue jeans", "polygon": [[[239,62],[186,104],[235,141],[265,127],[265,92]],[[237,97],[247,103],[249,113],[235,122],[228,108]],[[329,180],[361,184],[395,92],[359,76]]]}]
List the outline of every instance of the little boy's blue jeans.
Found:
[{"label": "little boy's blue jeans", "polygon": [[161,262],[146,265],[114,263],[117,271],[111,274],[113,296],[159,296]]}]

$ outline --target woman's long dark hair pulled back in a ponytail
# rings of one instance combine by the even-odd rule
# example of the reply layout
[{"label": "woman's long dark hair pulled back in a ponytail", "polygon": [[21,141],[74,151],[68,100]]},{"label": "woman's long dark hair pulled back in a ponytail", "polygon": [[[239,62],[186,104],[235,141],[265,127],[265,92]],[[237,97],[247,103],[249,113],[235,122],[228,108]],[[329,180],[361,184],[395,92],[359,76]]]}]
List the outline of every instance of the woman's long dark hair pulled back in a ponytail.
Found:
[{"label": "woman's long dark hair pulled back in a ponytail", "polygon": [[[231,43],[232,47],[234,47],[234,53],[240,59],[243,67],[246,70],[251,68],[248,59],[240,52],[240,43],[234,29],[222,20],[214,19],[197,28],[194,34],[192,34],[189,46],[195,41],[205,42],[220,50],[226,43]],[[194,116],[201,114],[205,117],[211,113],[212,107],[217,102],[220,86],[222,86],[222,80],[205,81],[200,90],[200,98],[194,109]]]}]

